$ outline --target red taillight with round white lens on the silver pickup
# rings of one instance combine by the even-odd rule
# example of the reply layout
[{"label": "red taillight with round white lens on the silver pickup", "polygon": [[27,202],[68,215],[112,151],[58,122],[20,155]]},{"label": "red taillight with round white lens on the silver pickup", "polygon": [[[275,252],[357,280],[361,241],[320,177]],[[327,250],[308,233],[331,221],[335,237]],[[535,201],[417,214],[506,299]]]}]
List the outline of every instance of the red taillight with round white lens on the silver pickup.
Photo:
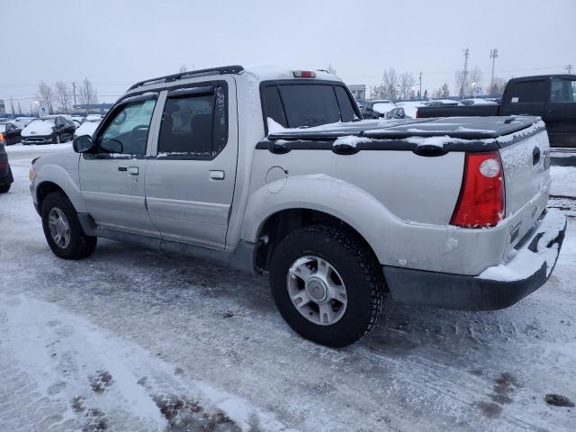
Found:
[{"label": "red taillight with round white lens on the silver pickup", "polygon": [[466,153],[464,177],[451,225],[493,227],[504,218],[504,178],[498,151]]}]

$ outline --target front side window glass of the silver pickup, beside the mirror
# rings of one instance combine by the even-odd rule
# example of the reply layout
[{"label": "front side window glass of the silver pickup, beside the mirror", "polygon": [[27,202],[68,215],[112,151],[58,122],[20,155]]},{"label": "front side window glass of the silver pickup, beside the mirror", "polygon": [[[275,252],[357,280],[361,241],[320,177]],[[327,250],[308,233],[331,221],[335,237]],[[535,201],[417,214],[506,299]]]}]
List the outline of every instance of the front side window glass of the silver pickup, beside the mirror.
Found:
[{"label": "front side window glass of the silver pickup, beside the mirror", "polygon": [[126,103],[103,130],[98,146],[103,153],[143,156],[156,99]]}]

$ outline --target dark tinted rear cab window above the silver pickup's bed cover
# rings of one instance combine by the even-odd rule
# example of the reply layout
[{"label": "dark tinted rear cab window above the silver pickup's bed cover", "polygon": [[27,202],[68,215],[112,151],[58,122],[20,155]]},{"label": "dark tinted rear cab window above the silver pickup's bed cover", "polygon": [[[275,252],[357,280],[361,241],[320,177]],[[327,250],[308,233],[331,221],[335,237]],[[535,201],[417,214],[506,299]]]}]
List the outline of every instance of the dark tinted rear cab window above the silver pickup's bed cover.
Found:
[{"label": "dark tinted rear cab window above the silver pickup's bed cover", "polygon": [[353,121],[356,112],[342,85],[266,85],[264,113],[284,128],[311,128],[337,121]]}]

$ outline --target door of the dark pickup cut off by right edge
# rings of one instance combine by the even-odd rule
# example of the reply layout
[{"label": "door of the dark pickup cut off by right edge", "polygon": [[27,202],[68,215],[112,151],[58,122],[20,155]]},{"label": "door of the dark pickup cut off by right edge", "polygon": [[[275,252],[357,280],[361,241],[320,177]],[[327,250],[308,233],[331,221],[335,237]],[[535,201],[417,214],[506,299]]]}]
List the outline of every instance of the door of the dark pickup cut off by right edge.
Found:
[{"label": "door of the dark pickup cut off by right edge", "polygon": [[576,79],[552,78],[544,119],[552,147],[576,148]]}]

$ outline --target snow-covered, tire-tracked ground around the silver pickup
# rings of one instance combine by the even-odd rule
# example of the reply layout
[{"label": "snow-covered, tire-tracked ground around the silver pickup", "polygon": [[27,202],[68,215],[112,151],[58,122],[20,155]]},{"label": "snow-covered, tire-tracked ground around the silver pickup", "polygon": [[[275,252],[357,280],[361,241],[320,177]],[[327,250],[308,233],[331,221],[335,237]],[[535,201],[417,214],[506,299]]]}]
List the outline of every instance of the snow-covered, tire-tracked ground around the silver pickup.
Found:
[{"label": "snow-covered, tire-tracked ground around the silver pickup", "polygon": [[[329,349],[288,329],[264,277],[107,240],[55,257],[27,177],[58,147],[7,149],[0,430],[574,430],[576,409],[545,395],[576,401],[575,219],[550,281],[517,305],[392,303],[369,337]],[[553,167],[554,193],[573,196],[575,173]]]}]

